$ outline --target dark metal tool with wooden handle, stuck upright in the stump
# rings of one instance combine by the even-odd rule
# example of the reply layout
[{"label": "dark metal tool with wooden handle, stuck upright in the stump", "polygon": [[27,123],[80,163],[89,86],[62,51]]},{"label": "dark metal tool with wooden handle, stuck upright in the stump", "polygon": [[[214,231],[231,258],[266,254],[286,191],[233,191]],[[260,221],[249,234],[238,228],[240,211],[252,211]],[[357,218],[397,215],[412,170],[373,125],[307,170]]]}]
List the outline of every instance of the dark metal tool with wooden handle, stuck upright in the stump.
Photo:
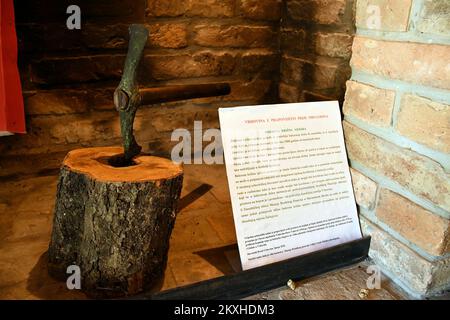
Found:
[{"label": "dark metal tool with wooden handle, stuck upright in the stump", "polygon": [[142,59],[148,30],[143,25],[130,26],[130,42],[125,60],[122,80],[114,92],[114,105],[120,116],[124,155],[120,162],[125,166],[133,157],[141,152],[141,146],[133,134],[133,123],[136,111],[141,105],[186,99],[205,98],[227,95],[230,85],[227,83],[208,83],[192,85],[174,85],[160,88],[139,89],[137,84],[137,68]]}]

